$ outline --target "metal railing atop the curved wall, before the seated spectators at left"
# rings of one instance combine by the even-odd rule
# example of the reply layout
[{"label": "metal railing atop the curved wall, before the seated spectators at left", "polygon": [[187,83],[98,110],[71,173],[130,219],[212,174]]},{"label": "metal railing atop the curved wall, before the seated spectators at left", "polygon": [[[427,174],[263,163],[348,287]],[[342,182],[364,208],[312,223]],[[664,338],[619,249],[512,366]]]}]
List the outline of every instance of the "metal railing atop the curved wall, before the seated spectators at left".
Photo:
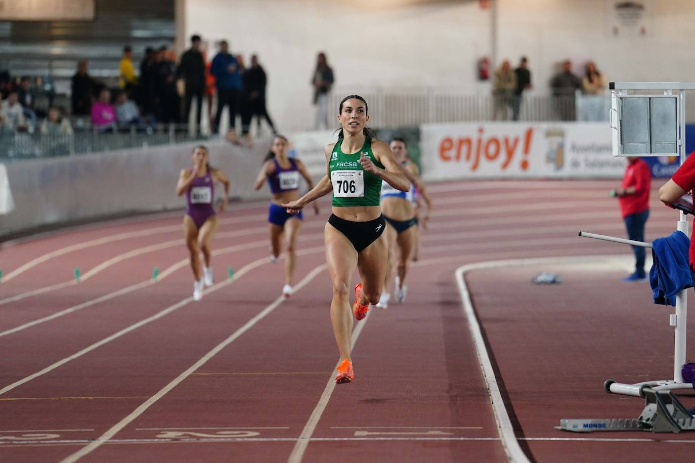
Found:
[{"label": "metal railing atop the curved wall, before the seated spectators at left", "polygon": [[184,125],[157,127],[131,126],[100,131],[90,126],[73,128],[73,133],[40,133],[36,129],[0,128],[0,163],[54,156],[72,156],[117,149],[146,148],[154,145],[174,145],[208,136],[192,133]]}]

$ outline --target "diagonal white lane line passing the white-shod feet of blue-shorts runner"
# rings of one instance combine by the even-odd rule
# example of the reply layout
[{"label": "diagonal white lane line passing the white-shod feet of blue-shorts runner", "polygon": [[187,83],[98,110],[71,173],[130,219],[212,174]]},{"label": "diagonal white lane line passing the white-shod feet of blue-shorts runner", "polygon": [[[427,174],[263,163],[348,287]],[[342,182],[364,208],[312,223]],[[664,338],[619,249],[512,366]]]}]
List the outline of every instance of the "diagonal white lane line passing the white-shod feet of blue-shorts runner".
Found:
[{"label": "diagonal white lane line passing the white-shod feet of blue-shorts runner", "polygon": [[[267,261],[267,259],[263,259],[263,261]],[[318,274],[321,273],[323,270],[325,270],[325,268],[326,268],[326,264],[325,264],[325,263],[322,263],[320,266],[318,266],[318,267],[314,268],[313,270],[311,270],[311,272],[310,272],[308,275],[306,275],[306,277],[304,277],[304,278],[302,279],[301,282],[299,282],[299,283],[297,284],[297,286],[295,287],[296,290],[298,291],[298,290],[302,289],[304,286],[306,286],[306,284],[309,284],[309,282],[311,282],[311,280],[314,279],[314,277],[316,277],[316,275],[318,275]],[[217,355],[222,349],[224,349],[224,348],[227,347],[230,343],[232,343],[232,342],[234,342],[236,339],[238,339],[239,336],[241,336],[242,334],[244,334],[245,332],[247,332],[248,330],[250,330],[254,325],[256,325],[256,323],[258,323],[259,321],[263,320],[263,318],[265,318],[265,316],[267,316],[268,314],[270,314],[270,312],[272,312],[273,310],[275,310],[275,309],[276,309],[280,304],[282,304],[282,302],[284,302],[285,300],[286,300],[286,299],[284,298],[284,296],[282,296],[282,295],[279,296],[279,298],[277,298],[274,302],[272,302],[272,304],[268,305],[268,307],[265,307],[265,309],[263,309],[263,311],[261,311],[259,314],[257,314],[256,316],[254,316],[254,318],[252,318],[251,320],[247,321],[247,323],[245,323],[242,327],[240,327],[240,328],[239,328],[238,330],[236,330],[233,334],[231,334],[231,336],[229,336],[227,339],[225,339],[224,341],[222,341],[221,343],[219,343],[219,344],[218,344],[217,346],[215,346],[212,350],[210,350],[210,352],[208,352],[206,355],[204,355],[203,357],[201,357],[197,362],[195,362],[195,364],[193,364],[192,366],[190,366],[190,368],[188,368],[186,371],[184,371],[183,373],[181,373],[181,375],[179,375],[177,378],[175,378],[174,380],[172,380],[172,382],[170,382],[170,383],[167,384],[165,387],[163,387],[163,388],[161,389],[161,391],[159,391],[159,392],[156,393],[154,396],[152,396],[151,398],[149,398],[148,400],[146,400],[145,403],[143,403],[142,405],[140,405],[140,407],[138,407],[138,408],[136,408],[135,410],[133,410],[133,412],[131,412],[131,414],[129,414],[128,416],[126,416],[126,417],[125,417],[124,419],[122,419],[120,422],[118,422],[118,423],[116,423],[115,425],[113,425],[113,426],[111,427],[111,429],[109,429],[109,430],[107,430],[106,432],[104,432],[104,434],[101,434],[101,436],[99,436],[99,437],[97,438],[97,440],[93,441],[93,442],[92,442],[91,444],[89,444],[88,446],[85,446],[85,447],[81,448],[79,451],[77,451],[77,452],[73,453],[72,455],[66,457],[64,460],[61,461],[61,463],[72,463],[72,462],[76,462],[76,461],[79,460],[81,457],[84,457],[85,455],[88,455],[89,453],[92,453],[94,450],[96,450],[97,448],[99,448],[99,446],[101,446],[101,444],[104,444],[105,441],[108,441],[109,439],[111,439],[111,437],[113,437],[117,432],[119,432],[119,431],[122,430],[124,427],[126,427],[126,425],[129,425],[129,423],[131,423],[131,421],[133,421],[134,419],[138,418],[138,416],[140,416],[143,412],[145,412],[145,410],[147,410],[147,409],[148,409],[149,407],[151,407],[154,403],[156,403],[156,401],[159,400],[160,398],[162,398],[167,392],[169,392],[169,391],[171,391],[172,389],[174,389],[174,387],[177,387],[177,385],[178,385],[181,381],[185,380],[188,376],[190,376],[191,373],[195,372],[198,368],[200,368],[201,366],[203,366],[204,364],[206,364],[206,362],[208,362],[209,359],[211,359],[212,357],[214,357],[215,355]]]}]

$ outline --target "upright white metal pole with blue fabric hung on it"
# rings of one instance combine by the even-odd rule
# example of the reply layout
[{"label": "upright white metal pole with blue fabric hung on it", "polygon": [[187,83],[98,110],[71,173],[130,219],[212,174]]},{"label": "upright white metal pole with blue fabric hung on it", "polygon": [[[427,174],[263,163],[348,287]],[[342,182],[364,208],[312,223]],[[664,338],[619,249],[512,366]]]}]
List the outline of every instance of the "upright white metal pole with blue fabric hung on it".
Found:
[{"label": "upright white metal pole with blue fabric hung on it", "polygon": [[[678,133],[678,149],[680,154],[680,164],[685,161],[685,90],[680,90],[680,108],[679,108],[680,127]],[[685,213],[680,211],[678,220],[678,230],[689,236],[688,222],[685,218]],[[682,366],[685,364],[685,349],[686,329],[688,321],[688,298],[687,291],[680,291],[676,295],[676,335],[675,346],[673,349],[673,381],[683,382],[681,372]]]}]

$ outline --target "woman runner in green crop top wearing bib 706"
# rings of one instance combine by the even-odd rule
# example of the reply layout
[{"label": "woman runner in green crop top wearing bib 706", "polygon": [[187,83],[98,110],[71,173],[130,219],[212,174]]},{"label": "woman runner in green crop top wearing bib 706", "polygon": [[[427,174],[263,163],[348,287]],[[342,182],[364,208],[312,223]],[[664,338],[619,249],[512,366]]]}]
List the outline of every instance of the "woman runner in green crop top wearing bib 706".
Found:
[{"label": "woman runner in green crop top wearing bib 706", "polygon": [[[288,213],[297,213],[306,204],[333,192],[333,214],[326,224],[324,241],[333,283],[331,321],[341,354],[338,384],[354,379],[350,359],[352,314],[357,320],[364,318],[369,304],[379,302],[384,284],[388,246],[379,206],[382,181],[398,190],[410,188],[389,145],[375,140],[374,131],[366,127],[368,120],[367,102],[358,95],[345,97],[338,109],[342,127],[338,141],[325,149],[327,175],[299,200],[283,204]],[[350,281],[355,268],[362,283],[355,286],[356,300],[350,314]]]}]

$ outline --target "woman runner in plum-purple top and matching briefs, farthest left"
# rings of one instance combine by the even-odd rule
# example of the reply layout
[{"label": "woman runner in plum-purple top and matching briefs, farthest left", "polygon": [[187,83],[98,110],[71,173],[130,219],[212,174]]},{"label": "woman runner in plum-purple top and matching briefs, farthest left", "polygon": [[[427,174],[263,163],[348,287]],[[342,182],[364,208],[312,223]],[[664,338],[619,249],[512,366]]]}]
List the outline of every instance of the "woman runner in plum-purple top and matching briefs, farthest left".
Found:
[{"label": "woman runner in plum-purple top and matching briefs, farthest left", "polygon": [[[186,215],[183,216],[183,236],[190,252],[190,267],[193,269],[193,299],[200,300],[204,286],[212,286],[213,272],[210,267],[211,244],[217,228],[215,200],[215,182],[224,185],[224,197],[220,212],[227,206],[229,197],[229,179],[219,169],[210,167],[208,149],[199,146],[193,149],[192,169],[183,169],[179,174],[177,195],[186,193]],[[203,253],[205,265],[200,268],[200,253]],[[201,275],[202,274],[202,275]]]}]

